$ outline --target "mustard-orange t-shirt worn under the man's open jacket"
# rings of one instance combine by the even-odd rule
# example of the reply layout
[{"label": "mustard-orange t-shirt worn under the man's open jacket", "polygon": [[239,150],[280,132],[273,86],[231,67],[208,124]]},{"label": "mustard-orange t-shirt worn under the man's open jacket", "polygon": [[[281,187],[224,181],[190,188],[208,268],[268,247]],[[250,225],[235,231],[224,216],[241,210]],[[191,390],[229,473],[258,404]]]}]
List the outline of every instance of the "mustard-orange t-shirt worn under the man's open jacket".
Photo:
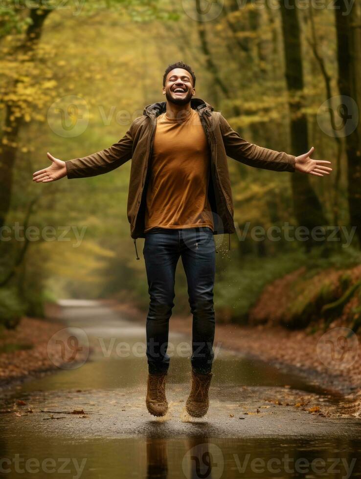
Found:
[{"label": "mustard-orange t-shirt worn under the man's open jacket", "polygon": [[199,114],[157,118],[145,229],[208,226],[213,217],[207,196],[210,152]]}]

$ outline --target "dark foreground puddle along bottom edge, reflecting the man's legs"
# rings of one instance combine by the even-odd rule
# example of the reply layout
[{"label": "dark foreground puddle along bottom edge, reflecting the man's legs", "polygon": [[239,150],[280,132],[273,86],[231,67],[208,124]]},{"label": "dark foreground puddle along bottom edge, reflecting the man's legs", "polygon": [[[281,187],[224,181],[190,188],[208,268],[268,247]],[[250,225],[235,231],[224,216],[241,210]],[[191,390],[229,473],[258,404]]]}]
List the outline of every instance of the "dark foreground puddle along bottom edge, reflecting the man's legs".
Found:
[{"label": "dark foreground puddle along bottom edge, reflecting the man's legs", "polygon": [[2,461],[0,477],[5,477],[6,471],[11,479],[336,479],[361,475],[361,441],[343,438],[270,441],[149,436],[110,441],[40,440],[35,447],[14,439],[5,447],[1,441],[1,446],[2,457],[10,462]]}]

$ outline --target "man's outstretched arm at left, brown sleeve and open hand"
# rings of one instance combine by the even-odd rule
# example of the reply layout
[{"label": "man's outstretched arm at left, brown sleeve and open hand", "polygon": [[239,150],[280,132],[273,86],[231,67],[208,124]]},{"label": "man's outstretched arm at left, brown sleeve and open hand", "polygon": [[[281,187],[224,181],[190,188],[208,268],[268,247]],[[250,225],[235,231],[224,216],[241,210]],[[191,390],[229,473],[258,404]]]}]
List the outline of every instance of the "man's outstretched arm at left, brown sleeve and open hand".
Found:
[{"label": "man's outstretched arm at left, brown sleeve and open hand", "polygon": [[37,183],[48,183],[49,181],[56,181],[64,176],[68,176],[68,178],[71,179],[108,173],[131,159],[133,138],[132,124],[125,135],[111,147],[84,156],[83,158],[62,161],[50,153],[47,153],[47,157],[51,160],[52,164],[48,168],[35,172],[33,174],[33,181]]}]

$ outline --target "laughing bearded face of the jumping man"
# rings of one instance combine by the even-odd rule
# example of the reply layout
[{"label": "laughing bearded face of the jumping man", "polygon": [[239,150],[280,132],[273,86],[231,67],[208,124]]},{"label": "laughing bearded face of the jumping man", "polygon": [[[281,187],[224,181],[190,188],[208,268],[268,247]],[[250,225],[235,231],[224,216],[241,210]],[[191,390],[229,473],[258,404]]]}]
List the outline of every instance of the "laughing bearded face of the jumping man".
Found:
[{"label": "laughing bearded face of the jumping man", "polygon": [[186,105],[195,94],[193,79],[187,70],[175,68],[168,73],[165,79],[165,87],[163,87],[163,95],[168,102],[175,105]]}]

